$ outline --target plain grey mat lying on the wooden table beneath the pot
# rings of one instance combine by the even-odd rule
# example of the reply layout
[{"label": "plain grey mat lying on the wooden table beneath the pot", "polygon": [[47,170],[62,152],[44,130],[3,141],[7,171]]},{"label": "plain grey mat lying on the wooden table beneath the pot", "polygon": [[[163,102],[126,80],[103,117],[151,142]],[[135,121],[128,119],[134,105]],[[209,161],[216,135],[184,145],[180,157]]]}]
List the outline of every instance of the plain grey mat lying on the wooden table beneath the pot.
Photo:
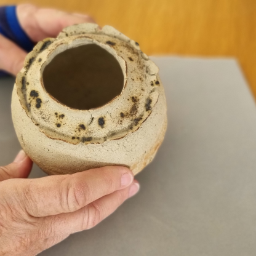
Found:
[{"label": "plain grey mat lying on the wooden table beneath the pot", "polygon": [[[169,126],[140,193],[40,255],[255,256],[256,108],[234,60],[154,57]],[[0,164],[20,146],[0,79]],[[36,166],[32,178],[44,173]]]}]

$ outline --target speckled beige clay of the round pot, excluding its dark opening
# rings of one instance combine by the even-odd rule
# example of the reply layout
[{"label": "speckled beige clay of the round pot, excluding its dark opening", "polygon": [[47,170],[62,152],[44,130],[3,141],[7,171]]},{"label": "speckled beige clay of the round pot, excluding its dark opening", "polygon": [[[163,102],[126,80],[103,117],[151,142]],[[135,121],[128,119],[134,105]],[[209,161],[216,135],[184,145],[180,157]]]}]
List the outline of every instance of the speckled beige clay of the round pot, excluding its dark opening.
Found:
[{"label": "speckled beige clay of the round pot, excluding its dark opening", "polygon": [[[46,92],[42,71],[60,52],[84,44],[97,44],[116,58],[124,88],[104,106],[76,110]],[[166,98],[158,67],[137,42],[111,26],[85,23],[38,42],[27,55],[14,85],[12,119],[23,150],[47,174],[110,165],[137,174],[164,139]]]}]

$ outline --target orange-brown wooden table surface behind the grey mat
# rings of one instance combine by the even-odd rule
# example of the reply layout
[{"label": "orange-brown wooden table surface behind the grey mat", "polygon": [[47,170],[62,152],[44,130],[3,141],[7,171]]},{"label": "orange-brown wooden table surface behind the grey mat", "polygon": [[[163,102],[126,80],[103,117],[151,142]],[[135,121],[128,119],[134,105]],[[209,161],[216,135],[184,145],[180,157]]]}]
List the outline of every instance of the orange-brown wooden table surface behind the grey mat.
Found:
[{"label": "orange-brown wooden table surface behind the grey mat", "polygon": [[[15,3],[24,1],[16,0]],[[148,55],[236,57],[256,96],[255,0],[34,0],[92,15],[140,43]],[[0,4],[13,4],[0,0]]]}]

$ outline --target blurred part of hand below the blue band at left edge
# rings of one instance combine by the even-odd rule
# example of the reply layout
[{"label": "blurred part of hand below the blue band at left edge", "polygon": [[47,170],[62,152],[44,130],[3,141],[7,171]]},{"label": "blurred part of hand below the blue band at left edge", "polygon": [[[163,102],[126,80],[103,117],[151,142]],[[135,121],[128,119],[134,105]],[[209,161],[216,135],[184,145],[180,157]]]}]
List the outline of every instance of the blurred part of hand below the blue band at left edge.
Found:
[{"label": "blurred part of hand below the blue band at left edge", "polygon": [[25,57],[24,50],[0,34],[0,70],[6,70],[16,76],[22,69]]}]

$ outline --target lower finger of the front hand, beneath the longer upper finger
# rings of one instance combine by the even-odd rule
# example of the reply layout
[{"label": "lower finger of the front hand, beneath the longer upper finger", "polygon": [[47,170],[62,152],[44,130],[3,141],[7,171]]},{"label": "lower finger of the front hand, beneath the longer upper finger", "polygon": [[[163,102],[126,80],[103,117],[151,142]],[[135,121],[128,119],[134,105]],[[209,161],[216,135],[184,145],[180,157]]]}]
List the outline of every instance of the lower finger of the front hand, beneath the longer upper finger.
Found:
[{"label": "lower finger of the front hand, beneath the longer upper finger", "polygon": [[[139,184],[135,180],[132,185],[127,188],[103,196],[76,212],[42,218],[42,225],[47,227],[46,230],[54,234],[71,234],[87,230],[112,214],[126,199],[134,196],[138,190]],[[46,236],[47,235],[49,234],[46,234]]]}]

